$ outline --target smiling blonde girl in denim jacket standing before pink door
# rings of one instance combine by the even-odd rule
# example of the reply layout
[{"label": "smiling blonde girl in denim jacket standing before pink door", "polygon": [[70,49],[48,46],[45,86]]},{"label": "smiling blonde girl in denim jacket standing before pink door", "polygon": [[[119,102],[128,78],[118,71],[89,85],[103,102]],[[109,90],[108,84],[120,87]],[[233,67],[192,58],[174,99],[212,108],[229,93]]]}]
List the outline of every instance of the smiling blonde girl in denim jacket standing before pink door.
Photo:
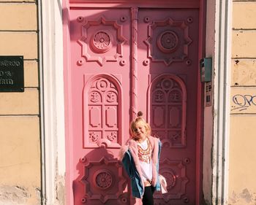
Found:
[{"label": "smiling blonde girl in denim jacket standing before pink door", "polygon": [[162,187],[162,193],[167,192],[164,177],[159,177],[162,144],[151,136],[151,127],[142,115],[142,112],[138,112],[138,117],[132,121],[132,138],[126,146],[121,147],[120,159],[131,179],[132,196],[142,198],[143,205],[154,205],[154,191]]}]

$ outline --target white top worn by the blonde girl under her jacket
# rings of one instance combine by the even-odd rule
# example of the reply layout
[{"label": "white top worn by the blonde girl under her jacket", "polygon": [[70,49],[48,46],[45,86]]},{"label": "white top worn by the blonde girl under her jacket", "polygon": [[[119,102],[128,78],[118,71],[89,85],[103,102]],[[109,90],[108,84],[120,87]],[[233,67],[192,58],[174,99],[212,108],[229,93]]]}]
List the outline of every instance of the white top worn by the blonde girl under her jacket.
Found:
[{"label": "white top worn by the blonde girl under her jacket", "polygon": [[[143,150],[146,150],[148,148],[148,139],[144,140],[144,142],[142,143],[138,143],[138,146],[140,146]],[[151,156],[150,156],[151,157]],[[152,180],[152,160],[150,160],[149,163],[140,160],[140,167],[141,167],[141,171],[142,171],[142,178],[143,181],[146,181],[146,179],[148,180]]]}]

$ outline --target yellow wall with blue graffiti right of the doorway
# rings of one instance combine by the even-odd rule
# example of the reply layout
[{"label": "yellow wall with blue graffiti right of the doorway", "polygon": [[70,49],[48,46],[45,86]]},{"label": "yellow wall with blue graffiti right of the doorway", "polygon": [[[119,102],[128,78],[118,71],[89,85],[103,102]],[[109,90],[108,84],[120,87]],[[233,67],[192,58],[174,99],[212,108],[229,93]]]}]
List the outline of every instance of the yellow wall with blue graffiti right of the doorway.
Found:
[{"label": "yellow wall with blue graffiti right of the doorway", "polygon": [[256,204],[256,1],[233,1],[229,201]]}]

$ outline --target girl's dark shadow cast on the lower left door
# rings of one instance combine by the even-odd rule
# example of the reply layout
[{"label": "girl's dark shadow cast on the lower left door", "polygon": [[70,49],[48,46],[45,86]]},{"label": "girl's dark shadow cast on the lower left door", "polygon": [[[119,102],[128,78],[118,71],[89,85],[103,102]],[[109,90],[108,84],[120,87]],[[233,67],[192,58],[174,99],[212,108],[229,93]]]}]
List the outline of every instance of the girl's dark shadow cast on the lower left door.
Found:
[{"label": "girl's dark shadow cast on the lower left door", "polygon": [[130,198],[129,177],[121,161],[101,147],[91,150],[77,164],[73,181],[74,204],[135,204]]}]

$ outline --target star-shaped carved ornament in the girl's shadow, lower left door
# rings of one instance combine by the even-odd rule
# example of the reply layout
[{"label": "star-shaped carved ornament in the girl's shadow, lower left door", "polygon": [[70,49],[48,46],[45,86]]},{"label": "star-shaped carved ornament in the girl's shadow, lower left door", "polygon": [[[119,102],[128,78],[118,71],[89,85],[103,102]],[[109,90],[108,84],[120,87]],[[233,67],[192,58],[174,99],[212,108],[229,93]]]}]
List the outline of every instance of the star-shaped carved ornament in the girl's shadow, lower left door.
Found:
[{"label": "star-shaped carved ornament in the girl's shadow, lower left door", "polygon": [[[81,198],[81,202],[86,204],[88,199],[99,199],[103,204],[111,199],[118,199],[121,204],[127,203],[127,196],[123,193],[123,186],[127,183],[127,179],[121,174],[118,180],[114,173],[116,169],[119,173],[122,172],[121,162],[118,160],[109,160],[103,157],[99,161],[91,161],[87,158],[82,158],[81,162],[84,164],[84,173],[86,173],[80,182],[85,187],[86,196]],[[108,166],[108,169],[105,169]],[[94,185],[97,189],[91,189]],[[108,190],[108,195],[106,195]]]}]

